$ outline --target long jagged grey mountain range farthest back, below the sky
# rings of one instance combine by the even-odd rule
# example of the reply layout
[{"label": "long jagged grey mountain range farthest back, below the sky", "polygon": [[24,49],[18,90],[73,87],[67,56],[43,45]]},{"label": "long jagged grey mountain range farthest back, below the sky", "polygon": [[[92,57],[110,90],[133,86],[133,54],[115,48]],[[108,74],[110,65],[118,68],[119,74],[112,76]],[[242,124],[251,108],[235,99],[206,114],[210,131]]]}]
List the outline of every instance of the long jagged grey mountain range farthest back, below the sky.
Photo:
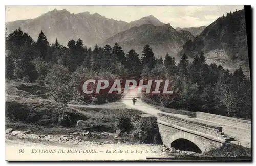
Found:
[{"label": "long jagged grey mountain range farthest back, below the sky", "polygon": [[6,27],[7,34],[21,27],[35,41],[42,30],[50,43],[55,42],[57,38],[60,43],[67,45],[69,40],[81,38],[84,45],[94,46],[96,43],[102,43],[121,31],[145,23],[155,26],[163,25],[154,16],[143,17],[140,20],[128,23],[108,19],[98,13],[83,12],[73,14],[66,9],[54,9],[35,19],[7,22]]}]

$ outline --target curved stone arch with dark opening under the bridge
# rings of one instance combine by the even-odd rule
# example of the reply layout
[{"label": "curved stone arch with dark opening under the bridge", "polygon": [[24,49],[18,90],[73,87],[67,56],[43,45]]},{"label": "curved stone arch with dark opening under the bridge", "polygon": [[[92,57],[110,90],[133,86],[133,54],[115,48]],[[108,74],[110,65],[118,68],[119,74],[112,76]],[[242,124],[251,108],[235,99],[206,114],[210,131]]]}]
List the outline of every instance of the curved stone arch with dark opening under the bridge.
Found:
[{"label": "curved stone arch with dark opening under the bridge", "polygon": [[202,153],[205,150],[204,144],[198,139],[197,135],[183,131],[171,136],[170,147],[179,150],[195,151],[197,153]]}]

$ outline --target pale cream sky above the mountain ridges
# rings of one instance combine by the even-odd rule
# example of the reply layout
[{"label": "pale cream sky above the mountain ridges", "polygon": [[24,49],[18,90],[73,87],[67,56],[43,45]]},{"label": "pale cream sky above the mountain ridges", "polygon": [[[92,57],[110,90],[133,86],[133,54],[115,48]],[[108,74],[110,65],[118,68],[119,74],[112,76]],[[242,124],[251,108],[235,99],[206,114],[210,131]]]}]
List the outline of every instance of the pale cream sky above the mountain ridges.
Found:
[{"label": "pale cream sky above the mountain ridges", "polygon": [[153,15],[172,27],[207,26],[227,12],[244,6],[6,6],[6,22],[33,19],[54,9],[70,13],[99,13],[106,18],[131,22]]}]

